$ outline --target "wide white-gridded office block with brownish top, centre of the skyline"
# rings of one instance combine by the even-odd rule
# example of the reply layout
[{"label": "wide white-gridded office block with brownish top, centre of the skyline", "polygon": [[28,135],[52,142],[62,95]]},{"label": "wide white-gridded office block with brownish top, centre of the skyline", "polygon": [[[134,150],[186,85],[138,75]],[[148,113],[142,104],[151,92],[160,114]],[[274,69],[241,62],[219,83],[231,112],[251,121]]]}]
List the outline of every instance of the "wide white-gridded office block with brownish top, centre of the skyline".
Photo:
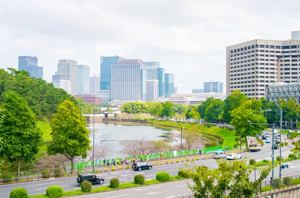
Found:
[{"label": "wide white-gridded office block with brownish top, centre of the skyline", "polygon": [[145,101],[146,72],[142,60],[120,59],[111,65],[110,100]]}]

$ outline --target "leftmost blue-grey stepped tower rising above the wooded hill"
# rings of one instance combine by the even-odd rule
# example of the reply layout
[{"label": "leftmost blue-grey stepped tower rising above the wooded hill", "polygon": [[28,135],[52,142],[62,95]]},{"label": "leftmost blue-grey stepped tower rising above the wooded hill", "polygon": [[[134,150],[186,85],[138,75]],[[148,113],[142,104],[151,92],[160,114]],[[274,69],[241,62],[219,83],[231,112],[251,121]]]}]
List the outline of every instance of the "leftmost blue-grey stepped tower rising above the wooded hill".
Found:
[{"label": "leftmost blue-grey stepped tower rising above the wooded hill", "polygon": [[43,77],[43,68],[37,66],[37,57],[32,56],[19,56],[18,57],[18,68],[20,70],[25,70],[30,73],[30,77],[41,78]]}]

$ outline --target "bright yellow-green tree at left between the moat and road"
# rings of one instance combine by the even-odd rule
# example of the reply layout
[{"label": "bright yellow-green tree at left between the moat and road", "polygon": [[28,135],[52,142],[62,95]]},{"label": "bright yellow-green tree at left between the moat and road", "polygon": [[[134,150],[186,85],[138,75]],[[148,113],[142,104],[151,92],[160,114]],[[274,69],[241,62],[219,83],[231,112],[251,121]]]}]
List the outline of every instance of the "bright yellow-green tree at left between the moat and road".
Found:
[{"label": "bright yellow-green tree at left between the moat and road", "polygon": [[51,120],[52,142],[47,145],[47,153],[64,155],[71,161],[71,172],[76,156],[87,157],[89,146],[88,131],[85,118],[74,103],[65,100],[58,106],[57,113]]}]

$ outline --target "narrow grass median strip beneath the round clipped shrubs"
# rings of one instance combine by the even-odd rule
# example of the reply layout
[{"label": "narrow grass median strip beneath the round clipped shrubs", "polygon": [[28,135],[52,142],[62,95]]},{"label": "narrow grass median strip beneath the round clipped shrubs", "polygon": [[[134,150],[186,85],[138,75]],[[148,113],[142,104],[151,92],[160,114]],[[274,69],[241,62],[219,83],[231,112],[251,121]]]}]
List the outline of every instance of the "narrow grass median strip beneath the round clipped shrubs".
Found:
[{"label": "narrow grass median strip beneath the round clipped shrubs", "polygon": [[[149,185],[153,185],[153,184],[157,184],[160,183],[157,180],[148,180],[145,181],[144,185],[138,185],[138,184],[134,184],[134,183],[123,183],[120,184],[118,188],[116,189],[112,189],[109,188],[108,186],[106,187],[97,187],[97,188],[92,188],[90,193],[82,193],[81,190],[75,190],[75,191],[66,191],[63,192],[63,197],[66,196],[76,196],[76,195],[86,195],[86,194],[91,194],[91,193],[101,193],[101,192],[107,192],[107,191],[113,191],[113,190],[118,190],[118,189],[128,189],[128,188],[133,188],[133,187],[140,187],[140,186],[149,186]],[[28,196],[28,198],[49,198],[46,195],[36,195],[36,196]]]}]

